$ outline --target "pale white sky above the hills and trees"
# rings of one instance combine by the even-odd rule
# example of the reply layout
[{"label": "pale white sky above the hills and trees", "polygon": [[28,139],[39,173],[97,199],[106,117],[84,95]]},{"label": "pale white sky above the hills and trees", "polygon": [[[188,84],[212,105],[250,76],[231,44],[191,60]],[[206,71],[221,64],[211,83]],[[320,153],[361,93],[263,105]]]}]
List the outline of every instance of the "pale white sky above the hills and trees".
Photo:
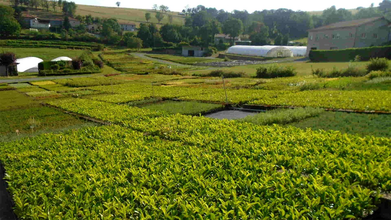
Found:
[{"label": "pale white sky above the hills and trees", "polygon": [[[217,10],[224,9],[225,11],[247,10],[249,13],[253,11],[262,11],[263,9],[279,9],[287,8],[294,11],[323,11],[324,9],[335,5],[338,8],[355,9],[357,7],[369,7],[371,3],[378,6],[382,0],[247,0],[241,4],[240,1],[233,0],[142,0],[142,1],[126,1],[126,0],[71,0],[76,4],[83,5],[99,5],[116,7],[117,1],[121,2],[120,7],[151,9],[154,4],[167,5],[170,11],[182,11],[186,5],[196,7],[204,5],[205,7],[215,7]],[[196,3],[195,3],[196,2]]]}]

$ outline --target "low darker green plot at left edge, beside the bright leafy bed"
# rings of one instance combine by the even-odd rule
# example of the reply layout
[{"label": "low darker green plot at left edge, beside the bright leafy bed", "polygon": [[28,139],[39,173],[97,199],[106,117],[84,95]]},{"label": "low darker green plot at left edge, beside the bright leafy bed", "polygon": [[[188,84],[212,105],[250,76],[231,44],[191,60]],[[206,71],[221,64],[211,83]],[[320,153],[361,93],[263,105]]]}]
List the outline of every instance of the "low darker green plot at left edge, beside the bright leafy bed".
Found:
[{"label": "low darker green plot at left edge, beside the bright leafy bed", "polygon": [[[38,100],[27,97],[39,89],[21,84],[17,90],[0,91],[0,142],[36,136],[48,132],[63,132],[86,126],[96,126],[57,109],[42,106]],[[39,91],[48,92],[44,89]],[[32,127],[31,127],[32,126]],[[16,133],[15,131],[19,132]]]}]

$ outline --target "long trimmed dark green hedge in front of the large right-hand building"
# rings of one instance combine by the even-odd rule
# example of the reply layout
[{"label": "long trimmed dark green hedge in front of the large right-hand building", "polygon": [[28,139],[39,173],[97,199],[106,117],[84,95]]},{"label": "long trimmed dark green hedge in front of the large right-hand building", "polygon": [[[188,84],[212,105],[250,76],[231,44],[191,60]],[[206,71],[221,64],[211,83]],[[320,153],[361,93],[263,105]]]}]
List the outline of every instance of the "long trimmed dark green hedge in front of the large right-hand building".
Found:
[{"label": "long trimmed dark green hedge in front of the large right-hand building", "polygon": [[348,48],[343,50],[311,50],[309,58],[313,62],[319,61],[350,61],[359,55],[361,60],[367,61],[375,57],[391,59],[391,46]]}]

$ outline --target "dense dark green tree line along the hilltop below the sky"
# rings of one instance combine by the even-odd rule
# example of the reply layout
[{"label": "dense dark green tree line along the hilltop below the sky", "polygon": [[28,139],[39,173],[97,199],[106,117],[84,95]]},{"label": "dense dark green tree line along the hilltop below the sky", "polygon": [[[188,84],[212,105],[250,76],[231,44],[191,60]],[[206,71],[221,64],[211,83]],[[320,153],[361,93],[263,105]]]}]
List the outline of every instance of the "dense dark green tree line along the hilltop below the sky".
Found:
[{"label": "dense dark green tree line along the hilltop below the sky", "polygon": [[[163,5],[164,6],[164,5]],[[161,7],[164,8],[164,7]],[[157,5],[153,9],[157,10]],[[305,11],[293,11],[291,9],[263,10],[248,13],[248,11],[234,10],[231,13],[216,8],[206,8],[203,5],[183,9],[186,14],[185,25],[172,25],[170,22],[163,25],[159,34],[163,41],[179,43],[188,42],[195,45],[208,46],[214,42],[214,36],[218,33],[228,34],[233,44],[233,39],[242,34],[248,35],[253,45],[287,45],[289,39],[304,38],[308,30],[339,21],[356,20],[385,16],[391,19],[391,1],[383,0],[378,7],[371,4],[368,8],[359,7],[358,12],[332,6],[325,9],[321,15],[310,14]],[[151,18],[150,13],[145,14],[146,21]],[[160,20],[158,19],[159,23]],[[153,26],[153,25],[152,25]],[[151,24],[143,24],[140,30],[140,38],[149,42],[156,38],[156,31]],[[147,33],[149,29],[150,33]],[[154,41],[156,45],[156,40]]]}]

